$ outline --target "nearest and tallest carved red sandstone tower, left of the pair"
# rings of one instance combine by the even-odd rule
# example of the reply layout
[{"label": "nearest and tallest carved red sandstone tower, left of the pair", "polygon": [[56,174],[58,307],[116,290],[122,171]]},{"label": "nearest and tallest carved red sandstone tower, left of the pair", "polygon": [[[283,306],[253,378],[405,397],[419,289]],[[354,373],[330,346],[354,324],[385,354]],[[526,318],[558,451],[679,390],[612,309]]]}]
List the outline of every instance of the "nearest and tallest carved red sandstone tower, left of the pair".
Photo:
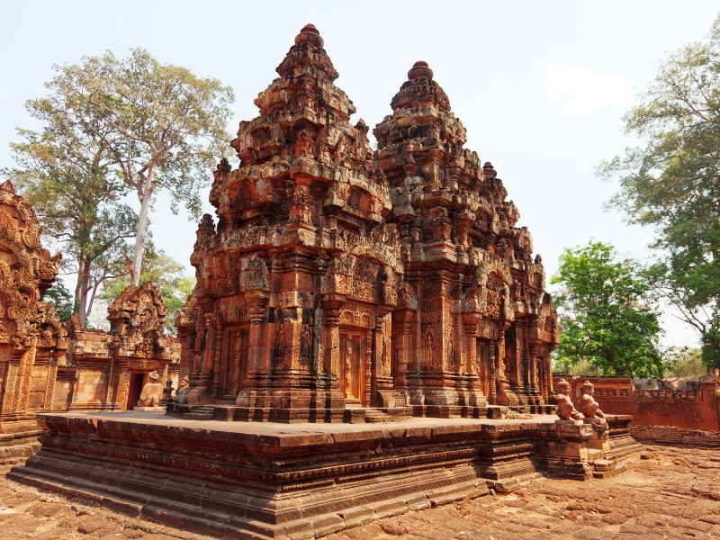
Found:
[{"label": "nearest and tallest carved red sandstone tower, left of the pair", "polygon": [[311,24],[240,122],[241,164],[220,162],[191,262],[198,284],[176,323],[186,404],[235,419],[342,421],[346,408],[404,414],[393,389],[391,312],[400,241],[368,128],[333,84]]}]

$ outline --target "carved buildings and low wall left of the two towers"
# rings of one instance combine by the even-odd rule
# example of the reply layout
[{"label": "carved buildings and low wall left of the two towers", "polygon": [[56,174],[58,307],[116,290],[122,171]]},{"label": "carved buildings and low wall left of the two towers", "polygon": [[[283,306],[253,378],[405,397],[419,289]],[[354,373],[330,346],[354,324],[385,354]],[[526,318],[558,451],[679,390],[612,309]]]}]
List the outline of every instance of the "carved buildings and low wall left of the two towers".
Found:
[{"label": "carved buildings and low wall left of the two towers", "polygon": [[109,333],[83,329],[76,317],[61,324],[41,300],[60,259],[41,246],[35,212],[13,184],[0,185],[0,463],[37,452],[36,413],[125,410],[133,383],[141,388],[153,370],[167,376],[179,357],[151,284],[112,303]]}]

